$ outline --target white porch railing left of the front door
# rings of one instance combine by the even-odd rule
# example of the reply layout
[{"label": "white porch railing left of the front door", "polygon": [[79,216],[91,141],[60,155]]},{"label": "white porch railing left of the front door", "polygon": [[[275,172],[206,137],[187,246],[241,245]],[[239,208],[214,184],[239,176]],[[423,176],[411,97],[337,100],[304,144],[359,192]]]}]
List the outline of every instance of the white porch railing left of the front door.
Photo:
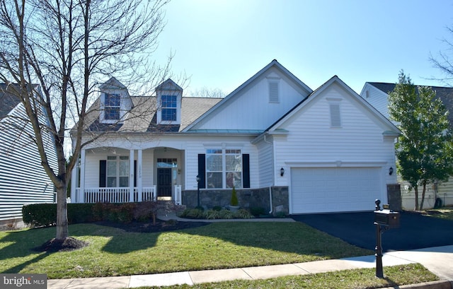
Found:
[{"label": "white porch railing left of the front door", "polygon": [[[156,201],[156,186],[143,187],[142,194],[134,188],[134,194],[130,194],[128,187],[115,188],[86,188],[83,198],[80,198],[80,189],[77,190],[79,203],[130,203],[137,201]],[[82,201],[83,200],[83,201]]]}]

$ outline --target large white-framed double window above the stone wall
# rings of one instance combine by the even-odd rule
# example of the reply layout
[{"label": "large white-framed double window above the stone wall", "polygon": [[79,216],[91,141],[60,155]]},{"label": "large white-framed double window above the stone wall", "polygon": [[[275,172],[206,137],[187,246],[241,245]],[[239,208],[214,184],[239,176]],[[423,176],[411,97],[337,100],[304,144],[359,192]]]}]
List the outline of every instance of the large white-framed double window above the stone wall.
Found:
[{"label": "large white-framed double window above the stone wall", "polygon": [[241,188],[241,150],[212,148],[206,151],[207,188]]}]

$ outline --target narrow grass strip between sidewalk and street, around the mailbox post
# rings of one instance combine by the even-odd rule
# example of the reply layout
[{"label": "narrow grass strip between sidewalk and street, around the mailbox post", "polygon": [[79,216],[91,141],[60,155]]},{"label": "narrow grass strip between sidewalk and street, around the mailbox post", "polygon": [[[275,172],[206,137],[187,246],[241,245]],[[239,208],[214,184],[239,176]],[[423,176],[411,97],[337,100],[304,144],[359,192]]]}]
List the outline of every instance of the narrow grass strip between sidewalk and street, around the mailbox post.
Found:
[{"label": "narrow grass strip between sidewalk and street, around the mailbox post", "polygon": [[[398,285],[408,285],[413,283],[422,283],[439,280],[437,276],[425,269],[420,264],[408,264],[401,266],[384,267],[384,278],[376,278],[374,269],[356,269],[333,271],[327,273],[317,273],[302,276],[285,276],[265,280],[234,280],[218,283],[202,283],[195,285],[174,285],[159,288],[166,289],[369,289],[383,288]],[[142,289],[151,289],[156,287],[141,287]]]}]

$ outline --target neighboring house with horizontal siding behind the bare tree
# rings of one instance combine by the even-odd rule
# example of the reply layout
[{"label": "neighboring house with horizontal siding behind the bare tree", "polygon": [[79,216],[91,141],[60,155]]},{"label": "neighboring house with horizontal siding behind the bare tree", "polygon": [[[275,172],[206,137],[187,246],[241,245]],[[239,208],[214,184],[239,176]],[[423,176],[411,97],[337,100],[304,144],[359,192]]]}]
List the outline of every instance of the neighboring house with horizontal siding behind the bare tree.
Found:
[{"label": "neighboring house with horizontal siding behind the bare tree", "polygon": [[[0,224],[21,220],[25,204],[54,201],[53,184],[29,137],[33,129],[26,122],[23,105],[13,95],[16,88],[0,83]],[[40,121],[47,123],[44,113]],[[57,168],[55,147],[50,136],[46,138],[50,165]]]}]

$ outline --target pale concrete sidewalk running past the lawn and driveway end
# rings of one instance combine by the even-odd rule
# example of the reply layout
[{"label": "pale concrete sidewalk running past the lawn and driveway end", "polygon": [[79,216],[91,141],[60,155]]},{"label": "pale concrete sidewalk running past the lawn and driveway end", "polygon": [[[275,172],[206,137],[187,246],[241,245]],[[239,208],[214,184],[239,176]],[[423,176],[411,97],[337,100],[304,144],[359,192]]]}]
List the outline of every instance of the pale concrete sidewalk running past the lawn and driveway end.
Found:
[{"label": "pale concrete sidewalk running past the lawn and driveway end", "polygon": [[[435,273],[442,280],[453,281],[453,245],[417,249],[412,251],[388,252],[382,258],[385,266],[396,266],[411,263],[420,263],[426,269]],[[185,271],[176,273],[161,273],[151,275],[134,275],[105,278],[74,278],[74,279],[51,279],[47,281],[49,289],[110,289],[110,288],[136,288],[141,286],[165,286],[176,284],[193,285],[197,283],[231,281],[236,279],[255,280],[275,278],[280,276],[297,276],[310,273],[322,273],[348,269],[374,268],[375,257],[359,256],[345,259],[333,259],[314,261],[297,264],[285,264],[274,266],[259,266],[238,269],[221,269],[206,271]],[[446,284],[446,283],[445,283]],[[444,284],[444,285],[445,285]],[[441,287],[440,284],[430,288]],[[411,287],[408,287],[411,288]],[[412,287],[414,288],[414,287]],[[418,286],[417,288],[428,288]]]}]

